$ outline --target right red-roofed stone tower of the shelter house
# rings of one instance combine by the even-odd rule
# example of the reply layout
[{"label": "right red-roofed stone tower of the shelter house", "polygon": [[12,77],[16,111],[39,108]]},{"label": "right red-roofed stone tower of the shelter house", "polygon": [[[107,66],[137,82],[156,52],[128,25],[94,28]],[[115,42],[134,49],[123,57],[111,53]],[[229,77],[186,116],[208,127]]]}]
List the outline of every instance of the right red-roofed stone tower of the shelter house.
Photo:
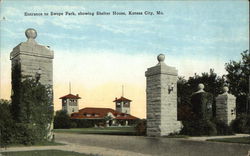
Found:
[{"label": "right red-roofed stone tower of the shelter house", "polygon": [[115,109],[118,112],[130,114],[130,102],[131,100],[121,96],[119,99],[115,98]]}]

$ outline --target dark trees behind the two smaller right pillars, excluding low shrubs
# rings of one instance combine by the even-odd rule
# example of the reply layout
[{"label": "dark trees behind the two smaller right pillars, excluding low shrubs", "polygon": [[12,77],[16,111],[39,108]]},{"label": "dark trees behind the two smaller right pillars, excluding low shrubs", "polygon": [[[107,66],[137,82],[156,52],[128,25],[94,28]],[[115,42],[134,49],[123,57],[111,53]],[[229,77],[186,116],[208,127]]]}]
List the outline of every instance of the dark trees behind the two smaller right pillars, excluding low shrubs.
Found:
[{"label": "dark trees behind the two smaller right pillars, excluding low shrubs", "polygon": [[250,81],[250,55],[246,50],[241,53],[240,61],[230,61],[225,64],[228,72],[226,75],[218,76],[213,69],[201,75],[195,74],[186,80],[179,77],[177,82],[178,96],[178,118],[185,120],[189,118],[191,95],[197,91],[199,83],[205,85],[205,91],[213,95],[213,112],[215,115],[215,98],[222,93],[224,86],[229,87],[229,93],[236,97],[237,116],[249,114],[249,81]]}]

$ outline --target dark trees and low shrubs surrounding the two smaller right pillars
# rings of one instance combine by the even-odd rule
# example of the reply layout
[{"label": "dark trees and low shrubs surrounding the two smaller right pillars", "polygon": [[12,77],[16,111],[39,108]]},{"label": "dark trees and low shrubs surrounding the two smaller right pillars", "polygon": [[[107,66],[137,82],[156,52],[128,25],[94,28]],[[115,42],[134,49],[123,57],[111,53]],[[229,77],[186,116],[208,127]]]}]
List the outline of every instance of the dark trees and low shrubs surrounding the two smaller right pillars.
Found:
[{"label": "dark trees and low shrubs surrounding the two smaller right pillars", "polygon": [[[177,82],[178,96],[178,120],[181,120],[184,128],[183,133],[188,135],[214,135],[232,132],[250,133],[250,111],[249,111],[249,81],[250,81],[250,55],[246,50],[241,53],[240,61],[230,61],[225,64],[227,74],[218,76],[213,69],[201,75],[195,74],[187,80],[179,77]],[[203,83],[205,91],[210,93],[213,108],[211,120],[194,122],[191,95],[197,91],[199,83]],[[222,93],[224,86],[229,87],[229,93],[236,97],[237,118],[231,127],[216,120],[215,98]],[[197,131],[198,130],[198,131]],[[204,134],[205,133],[205,134]]]}]

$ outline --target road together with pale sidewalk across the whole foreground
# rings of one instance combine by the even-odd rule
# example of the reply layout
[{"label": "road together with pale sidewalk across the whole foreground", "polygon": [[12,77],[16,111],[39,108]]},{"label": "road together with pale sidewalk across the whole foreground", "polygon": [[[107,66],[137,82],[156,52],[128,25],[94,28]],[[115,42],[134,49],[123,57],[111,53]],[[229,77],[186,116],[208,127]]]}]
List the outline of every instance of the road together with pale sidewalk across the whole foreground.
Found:
[{"label": "road together with pale sidewalk across the whole foreground", "polygon": [[[235,137],[239,136],[245,135]],[[250,145],[201,141],[204,139],[208,137],[177,139],[56,133],[56,141],[66,145],[0,148],[0,153],[54,149],[100,156],[247,156],[250,150]]]}]

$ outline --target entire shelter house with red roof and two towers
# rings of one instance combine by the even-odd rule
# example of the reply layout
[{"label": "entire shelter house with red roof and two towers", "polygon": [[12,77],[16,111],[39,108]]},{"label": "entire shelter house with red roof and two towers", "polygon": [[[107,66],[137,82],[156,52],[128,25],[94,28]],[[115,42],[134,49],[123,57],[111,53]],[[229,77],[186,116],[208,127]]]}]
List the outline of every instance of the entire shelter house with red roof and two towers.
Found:
[{"label": "entire shelter house with red roof and two towers", "polygon": [[62,99],[62,110],[70,115],[77,123],[85,122],[92,126],[129,126],[134,124],[138,117],[130,114],[130,103],[132,100],[123,96],[115,98],[116,110],[112,108],[85,107],[79,110],[78,94],[68,94],[60,97]]}]

